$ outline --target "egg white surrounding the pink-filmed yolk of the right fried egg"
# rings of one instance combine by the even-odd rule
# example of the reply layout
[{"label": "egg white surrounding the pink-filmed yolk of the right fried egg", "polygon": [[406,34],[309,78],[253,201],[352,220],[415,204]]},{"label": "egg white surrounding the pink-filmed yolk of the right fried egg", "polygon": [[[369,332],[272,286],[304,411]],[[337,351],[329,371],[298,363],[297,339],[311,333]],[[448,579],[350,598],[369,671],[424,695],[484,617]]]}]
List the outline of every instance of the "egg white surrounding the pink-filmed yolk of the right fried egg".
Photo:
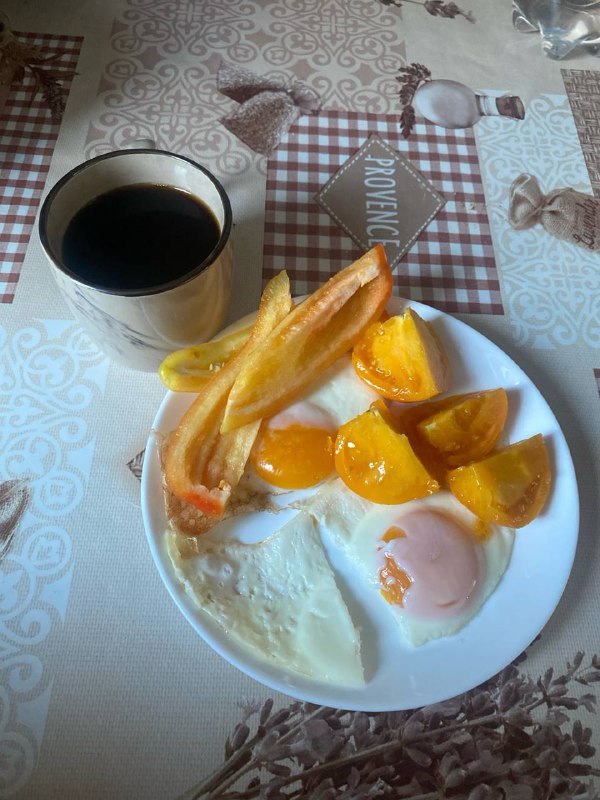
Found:
[{"label": "egg white surrounding the pink-filmed yolk of the right fried egg", "polygon": [[482,583],[473,601],[463,613],[439,619],[424,619],[405,608],[388,603],[381,595],[380,560],[377,557],[381,537],[392,525],[402,526],[402,518],[416,510],[442,511],[467,530],[475,530],[477,518],[448,491],[412,500],[402,505],[379,505],[354,494],[337,479],[323,486],[306,504],[321,535],[331,537],[362,577],[369,591],[376,593],[400,627],[406,641],[414,646],[457,633],[481,609],[504,574],[512,552],[514,531],[493,526],[485,540],[477,540],[484,564]]}]

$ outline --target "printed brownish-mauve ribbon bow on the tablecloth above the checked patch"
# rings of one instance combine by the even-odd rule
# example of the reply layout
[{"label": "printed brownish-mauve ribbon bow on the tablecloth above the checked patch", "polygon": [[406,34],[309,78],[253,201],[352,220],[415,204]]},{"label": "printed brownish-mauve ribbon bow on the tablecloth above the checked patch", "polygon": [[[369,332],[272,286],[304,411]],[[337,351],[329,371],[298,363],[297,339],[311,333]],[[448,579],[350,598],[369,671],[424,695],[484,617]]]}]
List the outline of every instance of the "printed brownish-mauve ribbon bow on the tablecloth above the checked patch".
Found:
[{"label": "printed brownish-mauve ribbon bow on the tablecloth above the checked patch", "polygon": [[301,83],[261,78],[250,70],[221,63],[217,89],[240,103],[221,123],[256,153],[269,155],[303,114],[314,114],[320,98]]}]

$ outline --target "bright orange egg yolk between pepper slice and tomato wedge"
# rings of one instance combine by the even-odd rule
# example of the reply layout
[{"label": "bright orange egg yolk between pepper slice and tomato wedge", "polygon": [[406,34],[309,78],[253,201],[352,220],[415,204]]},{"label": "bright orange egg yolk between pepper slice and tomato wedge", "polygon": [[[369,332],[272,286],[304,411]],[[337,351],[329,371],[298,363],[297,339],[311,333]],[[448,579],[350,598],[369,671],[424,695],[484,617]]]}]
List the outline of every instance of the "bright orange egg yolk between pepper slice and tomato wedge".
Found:
[{"label": "bright orange egg yolk between pepper slice and tomato wedge", "polygon": [[260,477],[273,486],[306,489],[333,472],[333,436],[324,428],[300,423],[286,428],[265,425],[250,461]]}]

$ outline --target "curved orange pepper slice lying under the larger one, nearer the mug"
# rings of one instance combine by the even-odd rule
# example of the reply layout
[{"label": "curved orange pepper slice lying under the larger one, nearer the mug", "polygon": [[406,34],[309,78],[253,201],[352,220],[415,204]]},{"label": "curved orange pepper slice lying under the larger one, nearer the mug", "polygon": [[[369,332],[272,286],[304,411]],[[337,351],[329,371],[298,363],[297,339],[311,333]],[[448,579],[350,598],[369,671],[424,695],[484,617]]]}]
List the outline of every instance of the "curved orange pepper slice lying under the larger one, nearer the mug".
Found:
[{"label": "curved orange pepper slice lying under the larger one, nearer the mug", "polygon": [[289,314],[291,307],[289,280],[281,272],[263,292],[248,341],[205,384],[164,448],[163,475],[167,489],[207,516],[223,515],[260,426],[257,420],[221,435],[231,387],[254,349]]}]

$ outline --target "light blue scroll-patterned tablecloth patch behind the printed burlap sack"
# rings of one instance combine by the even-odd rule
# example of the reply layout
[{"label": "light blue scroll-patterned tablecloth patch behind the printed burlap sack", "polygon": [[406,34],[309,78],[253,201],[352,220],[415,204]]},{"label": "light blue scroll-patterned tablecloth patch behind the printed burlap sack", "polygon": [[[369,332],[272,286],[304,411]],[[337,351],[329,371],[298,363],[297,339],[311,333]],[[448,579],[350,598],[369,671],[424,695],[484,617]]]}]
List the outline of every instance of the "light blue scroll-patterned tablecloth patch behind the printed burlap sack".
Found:
[{"label": "light blue scroll-patterned tablecloth patch behind the printed burlap sack", "polygon": [[540,349],[578,342],[598,348],[598,255],[558,241],[541,226],[514,231],[508,222],[509,187],[523,172],[534,175],[544,193],[559,187],[592,193],[568,100],[542,95],[529,103],[518,130],[503,122],[482,119],[475,136],[513,337]]}]

